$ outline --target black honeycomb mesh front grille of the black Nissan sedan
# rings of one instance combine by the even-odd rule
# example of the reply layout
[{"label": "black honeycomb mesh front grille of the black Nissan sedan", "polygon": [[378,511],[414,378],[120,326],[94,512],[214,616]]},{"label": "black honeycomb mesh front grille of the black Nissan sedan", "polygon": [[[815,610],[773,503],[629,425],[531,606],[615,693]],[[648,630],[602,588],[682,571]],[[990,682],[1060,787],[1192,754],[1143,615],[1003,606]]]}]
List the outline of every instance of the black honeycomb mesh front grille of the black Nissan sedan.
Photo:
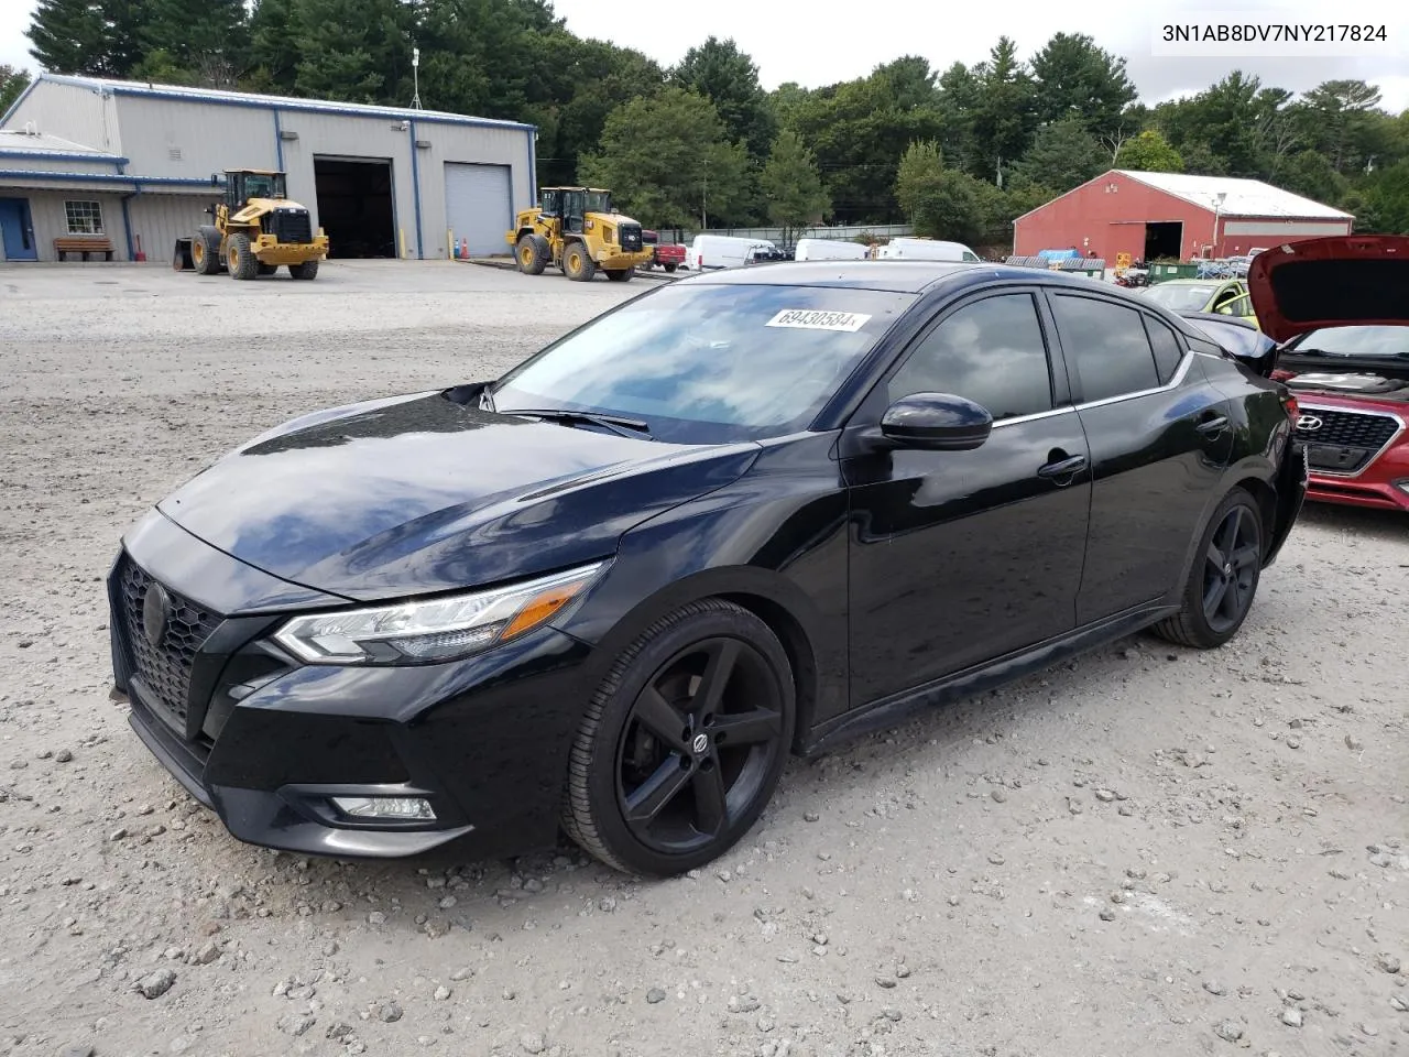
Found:
[{"label": "black honeycomb mesh front grille of the black Nissan sedan", "polygon": [[168,589],[170,609],[166,630],[154,644],[142,624],[147,592],[154,583],[145,569],[123,555],[118,579],[121,633],[132,674],[155,698],[151,703],[165,709],[176,726],[185,730],[196,653],[214,633],[220,617]]}]

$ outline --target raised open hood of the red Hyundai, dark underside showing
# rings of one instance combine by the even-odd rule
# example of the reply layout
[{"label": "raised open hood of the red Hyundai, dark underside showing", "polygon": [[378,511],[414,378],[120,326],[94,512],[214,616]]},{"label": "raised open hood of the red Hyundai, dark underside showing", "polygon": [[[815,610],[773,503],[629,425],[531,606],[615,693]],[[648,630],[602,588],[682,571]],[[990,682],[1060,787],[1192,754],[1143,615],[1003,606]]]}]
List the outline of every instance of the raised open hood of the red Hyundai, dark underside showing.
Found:
[{"label": "raised open hood of the red Hyundai, dark underside showing", "polygon": [[1248,293],[1278,342],[1323,327],[1409,327],[1409,237],[1332,235],[1253,258]]}]

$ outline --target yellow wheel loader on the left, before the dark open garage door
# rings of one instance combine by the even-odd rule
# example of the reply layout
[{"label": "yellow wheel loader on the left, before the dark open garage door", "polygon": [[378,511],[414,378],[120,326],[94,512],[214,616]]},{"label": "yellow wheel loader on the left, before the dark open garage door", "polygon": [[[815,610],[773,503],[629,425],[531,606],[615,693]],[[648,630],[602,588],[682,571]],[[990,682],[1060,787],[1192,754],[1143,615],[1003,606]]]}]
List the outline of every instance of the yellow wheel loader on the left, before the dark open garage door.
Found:
[{"label": "yellow wheel loader on the left, before the dark open garage door", "polygon": [[287,265],[294,279],[316,278],[318,261],[328,255],[328,237],[314,235],[309,210],[289,202],[287,178],[268,169],[230,169],[210,178],[211,186],[221,180],[225,200],[206,210],[216,223],[176,240],[176,271],[255,279]]}]

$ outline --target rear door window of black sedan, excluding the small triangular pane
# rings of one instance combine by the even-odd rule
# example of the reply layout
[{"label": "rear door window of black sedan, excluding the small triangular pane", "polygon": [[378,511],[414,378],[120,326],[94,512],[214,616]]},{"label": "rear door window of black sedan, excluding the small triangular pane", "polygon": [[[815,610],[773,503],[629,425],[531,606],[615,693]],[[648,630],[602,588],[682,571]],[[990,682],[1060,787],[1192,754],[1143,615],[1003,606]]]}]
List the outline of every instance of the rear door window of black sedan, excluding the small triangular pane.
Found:
[{"label": "rear door window of black sedan, excluding the small triangular pane", "polygon": [[1095,297],[1057,295],[1053,314],[1067,362],[1081,378],[1082,402],[1160,388],[1141,313]]}]

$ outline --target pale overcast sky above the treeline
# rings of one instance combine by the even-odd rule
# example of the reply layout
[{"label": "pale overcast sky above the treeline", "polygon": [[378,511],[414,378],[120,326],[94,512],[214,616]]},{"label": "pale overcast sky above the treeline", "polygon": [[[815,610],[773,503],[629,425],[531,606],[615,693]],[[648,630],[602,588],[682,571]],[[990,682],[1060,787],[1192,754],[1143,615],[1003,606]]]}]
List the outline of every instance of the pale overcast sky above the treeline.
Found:
[{"label": "pale overcast sky above the treeline", "polygon": [[[0,0],[0,62],[34,69],[24,35],[35,0]],[[1006,0],[983,7],[923,0],[557,0],[568,27],[583,37],[638,48],[669,65],[710,34],[733,37],[754,56],[764,87],[789,80],[806,87],[864,76],[903,54],[923,55],[944,69],[983,58],[1003,32],[1031,55],[1058,30],[1085,32],[1100,47],[1129,59],[1130,76],[1146,101],[1198,92],[1233,69],[1255,73],[1267,85],[1293,92],[1323,80],[1355,78],[1379,86],[1384,106],[1409,109],[1409,16],[1402,0],[1241,0],[1233,4],[1110,3],[1076,0]],[[841,16],[841,17],[838,17]],[[1202,55],[1160,54],[1158,24],[1181,23],[1323,23],[1384,25],[1388,42],[1312,44],[1301,55],[1285,45],[1248,48],[1202,45]],[[1017,27],[1017,28],[1014,28]],[[1270,52],[1282,54],[1270,54]]]}]

